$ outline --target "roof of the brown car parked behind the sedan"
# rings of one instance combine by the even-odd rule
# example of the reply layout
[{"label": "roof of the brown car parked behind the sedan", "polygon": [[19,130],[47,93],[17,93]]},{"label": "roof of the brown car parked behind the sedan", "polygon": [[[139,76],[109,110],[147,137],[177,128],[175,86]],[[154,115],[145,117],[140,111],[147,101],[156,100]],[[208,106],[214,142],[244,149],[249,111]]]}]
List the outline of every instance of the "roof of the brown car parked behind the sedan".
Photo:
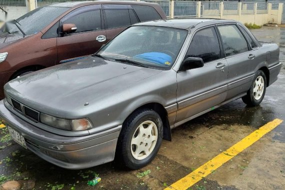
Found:
[{"label": "roof of the brown car parked behind the sedan", "polygon": [[59,2],[49,4],[47,6],[55,6],[55,7],[75,7],[75,6],[83,6],[90,4],[153,4],[145,1],[133,1],[133,0],[86,0],[86,1],[68,1],[68,2]]}]

